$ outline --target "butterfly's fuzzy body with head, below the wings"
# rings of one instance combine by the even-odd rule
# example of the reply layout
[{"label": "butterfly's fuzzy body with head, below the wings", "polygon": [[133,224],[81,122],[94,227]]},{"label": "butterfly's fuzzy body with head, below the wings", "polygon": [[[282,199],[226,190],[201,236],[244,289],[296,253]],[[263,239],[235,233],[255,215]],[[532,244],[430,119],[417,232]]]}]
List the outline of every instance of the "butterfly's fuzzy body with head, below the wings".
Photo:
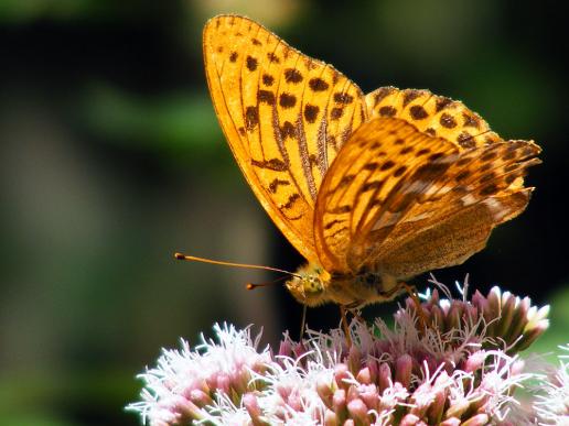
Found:
[{"label": "butterfly's fuzzy body with head, below the wings", "polygon": [[308,263],[287,282],[287,288],[307,306],[332,302],[357,308],[393,299],[401,287],[396,277],[380,272],[330,273],[318,264]]}]

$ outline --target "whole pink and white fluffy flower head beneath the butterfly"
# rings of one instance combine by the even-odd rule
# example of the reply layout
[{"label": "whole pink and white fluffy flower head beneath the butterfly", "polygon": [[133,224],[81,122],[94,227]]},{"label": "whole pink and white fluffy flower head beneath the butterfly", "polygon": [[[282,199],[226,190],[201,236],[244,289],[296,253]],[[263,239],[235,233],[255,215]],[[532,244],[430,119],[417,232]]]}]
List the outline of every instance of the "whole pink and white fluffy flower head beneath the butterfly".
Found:
[{"label": "whole pink and white fluffy flower head beneath the butterfly", "polygon": [[[284,334],[273,353],[258,349],[260,335],[253,338],[250,328],[215,325],[215,340],[163,350],[140,375],[142,401],[127,409],[150,425],[453,426],[529,418],[516,414],[516,389],[543,375],[525,371],[518,352],[547,328],[548,307],[497,287],[469,301],[465,285],[453,299],[431,283],[437,288],[420,307],[409,298],[396,312],[393,328],[379,318],[353,320],[350,347],[340,328],[308,330],[301,341]],[[546,395],[567,390],[562,367]],[[545,398],[536,400],[534,417],[559,416]]]}]

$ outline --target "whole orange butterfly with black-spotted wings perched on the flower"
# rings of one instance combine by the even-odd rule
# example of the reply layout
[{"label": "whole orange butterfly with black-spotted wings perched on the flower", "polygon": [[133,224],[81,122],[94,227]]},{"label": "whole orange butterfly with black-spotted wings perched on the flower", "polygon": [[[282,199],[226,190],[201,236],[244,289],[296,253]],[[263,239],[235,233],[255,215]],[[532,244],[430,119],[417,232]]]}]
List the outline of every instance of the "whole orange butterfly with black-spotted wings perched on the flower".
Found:
[{"label": "whole orange butterfly with black-spotted wings perched on the flower", "polygon": [[505,141],[428,90],[368,95],[257,22],[203,33],[213,105],[258,200],[305,258],[286,283],[307,306],[385,302],[406,280],[464,262],[519,215],[540,148]]}]

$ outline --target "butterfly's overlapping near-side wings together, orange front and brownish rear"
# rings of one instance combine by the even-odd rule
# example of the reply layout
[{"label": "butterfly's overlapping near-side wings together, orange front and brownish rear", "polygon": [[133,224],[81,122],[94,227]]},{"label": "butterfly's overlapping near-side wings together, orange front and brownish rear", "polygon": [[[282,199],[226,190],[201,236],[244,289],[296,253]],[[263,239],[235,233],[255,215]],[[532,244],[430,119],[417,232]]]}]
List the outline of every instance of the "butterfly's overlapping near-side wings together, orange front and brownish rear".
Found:
[{"label": "butterfly's overlapping near-side wings together, orange front and brownish rear", "polygon": [[[373,149],[378,144],[386,154]],[[538,153],[527,141],[461,150],[405,120],[372,119],[322,185],[319,255],[340,272],[365,266],[398,278],[461,263],[495,226],[524,210],[532,189],[523,176]]]}]

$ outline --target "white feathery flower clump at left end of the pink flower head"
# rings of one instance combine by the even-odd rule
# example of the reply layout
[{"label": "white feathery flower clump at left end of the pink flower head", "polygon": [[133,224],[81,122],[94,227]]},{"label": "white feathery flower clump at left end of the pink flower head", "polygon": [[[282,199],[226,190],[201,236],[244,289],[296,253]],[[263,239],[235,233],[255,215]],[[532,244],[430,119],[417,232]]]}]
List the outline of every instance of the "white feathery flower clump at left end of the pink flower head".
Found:
[{"label": "white feathery flower clump at left end of the pink flower head", "polygon": [[146,382],[142,402],[128,408],[140,412],[142,423],[176,425],[216,417],[215,413],[247,414],[233,404],[240,406],[241,395],[256,390],[251,378],[271,364],[270,350],[259,351],[249,329],[215,325],[214,331],[217,342],[202,336],[203,343],[191,350],[182,340],[182,350],[163,350],[158,365],[139,375]]}]

